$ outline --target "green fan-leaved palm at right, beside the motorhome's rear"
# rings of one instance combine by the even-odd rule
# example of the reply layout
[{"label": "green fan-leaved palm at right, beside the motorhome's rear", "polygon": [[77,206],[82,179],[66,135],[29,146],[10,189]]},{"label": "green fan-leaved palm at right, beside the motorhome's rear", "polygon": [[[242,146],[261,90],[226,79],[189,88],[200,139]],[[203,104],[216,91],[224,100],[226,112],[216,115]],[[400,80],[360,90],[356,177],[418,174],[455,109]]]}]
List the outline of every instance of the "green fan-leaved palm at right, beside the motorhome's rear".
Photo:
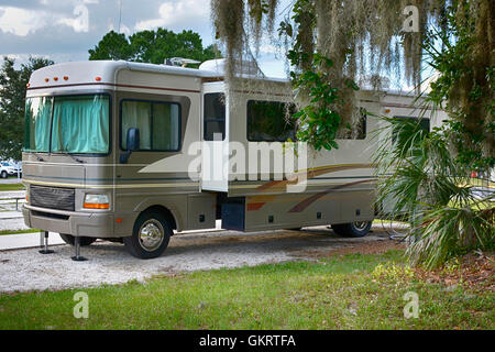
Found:
[{"label": "green fan-leaved palm at right, beside the motorhome's rear", "polygon": [[465,251],[493,249],[495,194],[474,191],[469,169],[449,150],[446,129],[428,133],[419,120],[384,121],[374,161],[377,201],[388,204],[382,217],[410,223],[413,263],[433,268]]}]

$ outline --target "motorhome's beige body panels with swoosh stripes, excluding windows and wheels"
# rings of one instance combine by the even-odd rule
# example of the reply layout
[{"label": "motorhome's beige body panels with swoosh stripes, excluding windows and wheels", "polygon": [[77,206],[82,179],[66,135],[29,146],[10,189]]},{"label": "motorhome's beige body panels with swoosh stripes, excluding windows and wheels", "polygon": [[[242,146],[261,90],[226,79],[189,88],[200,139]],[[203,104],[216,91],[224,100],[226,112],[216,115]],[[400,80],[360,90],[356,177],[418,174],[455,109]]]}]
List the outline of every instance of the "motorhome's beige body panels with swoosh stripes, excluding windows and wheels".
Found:
[{"label": "motorhome's beige body panels with swoosh stripes, excluding windows and wheels", "polygon": [[[57,77],[57,80],[54,78]],[[28,196],[32,187],[74,189],[74,211],[38,207],[30,197],[23,208],[25,223],[35,229],[72,234],[118,239],[130,237],[138,217],[147,209],[163,212],[177,232],[215,228],[217,218],[224,227],[243,231],[290,229],[317,224],[370,221],[375,216],[375,176],[372,155],[380,141],[373,139],[378,119],[366,121],[364,140],[339,141],[339,150],[308,154],[308,180],[304,193],[288,194],[285,180],[204,180],[189,166],[197,162],[189,147],[202,141],[204,95],[224,92],[216,72],[125,62],[86,62],[50,66],[33,74],[28,98],[105,94],[110,97],[110,152],[108,155],[23,154],[23,183]],[[270,89],[286,82],[267,80]],[[271,96],[272,94],[272,96]],[[180,148],[178,152],[133,152],[120,163],[122,101],[166,101],[180,106]],[[227,97],[227,146],[238,142],[249,147],[246,102],[249,100],[290,101],[276,90],[233,92]],[[363,91],[360,105],[376,114],[417,116],[413,98],[381,96]],[[231,114],[229,116],[229,110]],[[217,143],[217,142],[205,142]],[[282,144],[282,143],[280,143]],[[42,160],[40,160],[40,157]],[[223,155],[210,160],[221,167],[230,163]],[[160,166],[162,165],[162,166]],[[212,166],[215,166],[212,165]],[[151,166],[158,166],[156,167]],[[110,208],[84,208],[86,194],[102,194]],[[222,207],[227,211],[222,211]],[[229,208],[230,207],[230,208]],[[232,213],[233,211],[233,213]],[[232,226],[233,224],[233,226]]]}]

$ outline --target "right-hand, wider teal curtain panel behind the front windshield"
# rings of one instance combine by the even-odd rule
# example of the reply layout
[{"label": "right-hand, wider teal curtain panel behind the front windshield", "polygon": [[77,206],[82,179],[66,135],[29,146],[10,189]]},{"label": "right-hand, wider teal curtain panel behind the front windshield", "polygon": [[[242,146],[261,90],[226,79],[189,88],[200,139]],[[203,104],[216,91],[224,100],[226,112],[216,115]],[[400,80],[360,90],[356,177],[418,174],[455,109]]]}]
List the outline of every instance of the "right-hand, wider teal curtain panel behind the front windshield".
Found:
[{"label": "right-hand, wider teal curtain panel behind the front windshield", "polygon": [[109,125],[107,97],[55,98],[52,152],[108,153]]}]

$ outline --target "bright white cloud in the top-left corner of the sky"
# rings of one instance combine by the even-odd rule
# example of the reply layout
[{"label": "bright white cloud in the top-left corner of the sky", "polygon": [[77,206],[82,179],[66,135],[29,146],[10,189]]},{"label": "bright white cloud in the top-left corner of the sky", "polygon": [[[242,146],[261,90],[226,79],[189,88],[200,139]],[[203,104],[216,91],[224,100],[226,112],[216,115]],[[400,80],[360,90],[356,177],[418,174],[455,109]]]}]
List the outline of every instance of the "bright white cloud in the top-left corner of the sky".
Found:
[{"label": "bright white cloud in the top-left corner of the sky", "polygon": [[26,36],[46,25],[47,13],[11,7],[0,8],[0,31]]}]

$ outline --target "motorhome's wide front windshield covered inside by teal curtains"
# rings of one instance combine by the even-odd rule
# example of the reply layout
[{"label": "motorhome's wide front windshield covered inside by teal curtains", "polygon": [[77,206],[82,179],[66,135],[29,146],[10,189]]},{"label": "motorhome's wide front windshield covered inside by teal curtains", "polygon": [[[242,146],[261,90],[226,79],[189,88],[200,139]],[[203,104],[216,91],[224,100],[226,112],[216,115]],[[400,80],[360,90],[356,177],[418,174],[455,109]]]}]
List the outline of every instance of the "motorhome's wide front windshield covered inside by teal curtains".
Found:
[{"label": "motorhome's wide front windshield covered inside by teal curtains", "polygon": [[102,95],[28,98],[24,150],[107,154],[109,116],[109,98]]}]

